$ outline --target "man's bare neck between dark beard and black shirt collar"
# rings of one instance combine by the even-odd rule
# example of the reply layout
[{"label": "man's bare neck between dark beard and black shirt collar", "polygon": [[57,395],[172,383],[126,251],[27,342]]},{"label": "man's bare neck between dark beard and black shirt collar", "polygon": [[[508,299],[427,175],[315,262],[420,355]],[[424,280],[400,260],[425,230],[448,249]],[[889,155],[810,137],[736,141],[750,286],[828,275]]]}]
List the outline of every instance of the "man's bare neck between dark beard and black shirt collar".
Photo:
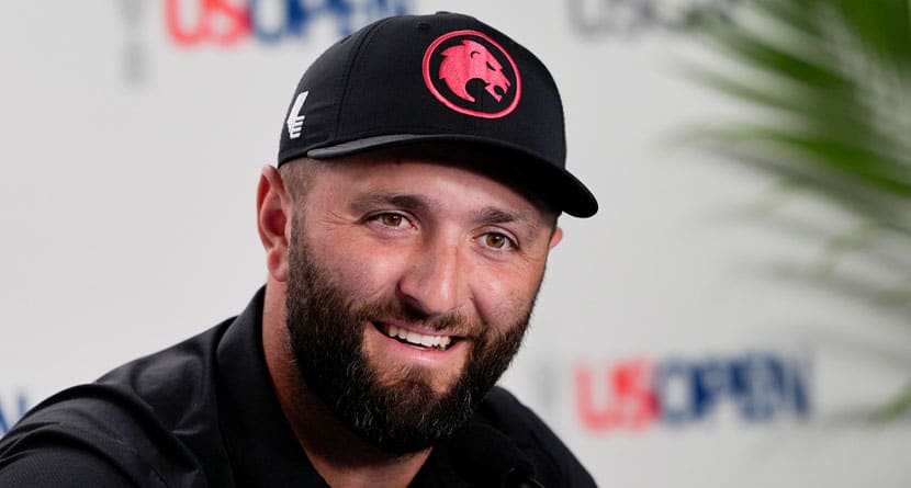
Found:
[{"label": "man's bare neck between dark beard and black shirt collar", "polygon": [[262,310],[266,364],[282,411],[317,473],[333,487],[405,487],[430,450],[392,454],[355,435],[307,389],[291,352],[284,316],[285,287],[269,281]]}]

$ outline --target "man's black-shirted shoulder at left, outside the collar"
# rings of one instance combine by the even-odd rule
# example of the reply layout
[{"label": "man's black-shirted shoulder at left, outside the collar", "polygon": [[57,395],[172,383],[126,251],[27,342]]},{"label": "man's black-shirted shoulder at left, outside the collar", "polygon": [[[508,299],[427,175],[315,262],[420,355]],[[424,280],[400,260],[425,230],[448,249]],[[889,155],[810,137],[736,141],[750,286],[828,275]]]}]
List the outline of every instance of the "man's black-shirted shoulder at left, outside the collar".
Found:
[{"label": "man's black-shirted shoulder at left, outside the collar", "polygon": [[0,486],[202,486],[218,329],[63,390],[0,439]]}]

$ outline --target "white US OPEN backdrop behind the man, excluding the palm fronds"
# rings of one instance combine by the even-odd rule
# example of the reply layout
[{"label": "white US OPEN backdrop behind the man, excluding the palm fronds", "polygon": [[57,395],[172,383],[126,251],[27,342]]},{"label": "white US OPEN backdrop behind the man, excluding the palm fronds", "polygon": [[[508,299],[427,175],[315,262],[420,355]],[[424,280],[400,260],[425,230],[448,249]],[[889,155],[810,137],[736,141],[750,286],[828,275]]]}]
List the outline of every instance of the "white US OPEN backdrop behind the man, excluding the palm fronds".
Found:
[{"label": "white US OPEN backdrop behind the man, excluding the palm fronds", "polygon": [[[259,36],[202,0],[0,4],[0,434],[53,391],[238,313],[263,281],[255,188],[301,72],[378,12],[454,10],[551,68],[570,167],[600,201],[562,219],[504,379],[598,483],[908,486],[909,423],[866,420],[907,381],[907,324],[781,276],[821,243],[777,227],[840,216],[798,203],[744,218],[769,180],[667,143],[738,109],[682,80],[676,63],[710,58],[641,23],[645,2],[300,0],[315,9],[300,35],[268,42],[294,21],[284,0],[211,2],[255,9]],[[648,3],[673,19],[718,2]]]}]

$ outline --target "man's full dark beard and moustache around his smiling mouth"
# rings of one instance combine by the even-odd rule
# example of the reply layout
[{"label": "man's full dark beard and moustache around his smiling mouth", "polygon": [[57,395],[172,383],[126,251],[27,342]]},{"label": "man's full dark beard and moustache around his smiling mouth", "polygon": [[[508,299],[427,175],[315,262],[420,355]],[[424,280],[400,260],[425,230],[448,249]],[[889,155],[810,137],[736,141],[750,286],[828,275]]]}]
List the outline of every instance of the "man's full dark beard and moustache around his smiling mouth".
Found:
[{"label": "man's full dark beard and moustache around his smiling mouth", "polygon": [[[292,225],[285,307],[291,349],[305,388],[361,440],[392,453],[421,451],[452,434],[509,366],[525,336],[535,296],[498,336],[484,324],[458,316],[428,319],[394,299],[346,299],[330,274],[310,258],[301,224],[295,218]],[[424,321],[435,330],[472,331],[474,342],[456,384],[438,394],[425,379],[426,371],[409,367],[395,372],[402,379],[394,385],[381,385],[362,348],[364,325],[376,317]]]}]

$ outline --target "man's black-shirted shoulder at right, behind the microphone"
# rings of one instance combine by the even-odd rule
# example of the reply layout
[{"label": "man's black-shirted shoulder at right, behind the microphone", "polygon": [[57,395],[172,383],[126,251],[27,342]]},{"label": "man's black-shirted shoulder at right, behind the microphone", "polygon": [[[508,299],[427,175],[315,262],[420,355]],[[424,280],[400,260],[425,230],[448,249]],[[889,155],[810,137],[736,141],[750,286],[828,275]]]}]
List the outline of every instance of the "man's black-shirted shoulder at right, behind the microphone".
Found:
[{"label": "man's black-shirted shoulder at right, behind the microphone", "polygon": [[475,415],[506,434],[535,465],[544,486],[594,487],[592,476],[555,433],[513,394],[494,387]]}]

